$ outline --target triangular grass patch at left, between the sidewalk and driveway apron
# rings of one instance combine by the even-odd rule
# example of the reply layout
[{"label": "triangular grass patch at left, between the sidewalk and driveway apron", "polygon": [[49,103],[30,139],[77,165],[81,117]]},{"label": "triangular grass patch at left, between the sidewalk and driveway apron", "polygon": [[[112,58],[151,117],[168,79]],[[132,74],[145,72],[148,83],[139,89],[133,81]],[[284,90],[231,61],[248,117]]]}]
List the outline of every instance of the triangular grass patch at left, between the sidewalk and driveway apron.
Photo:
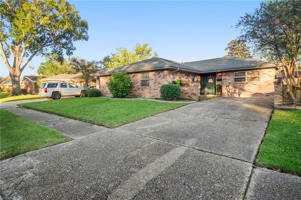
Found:
[{"label": "triangular grass patch at left, between the sidewalk and driveway apron", "polygon": [[0,110],[0,159],[71,141],[61,133],[5,110]]}]

